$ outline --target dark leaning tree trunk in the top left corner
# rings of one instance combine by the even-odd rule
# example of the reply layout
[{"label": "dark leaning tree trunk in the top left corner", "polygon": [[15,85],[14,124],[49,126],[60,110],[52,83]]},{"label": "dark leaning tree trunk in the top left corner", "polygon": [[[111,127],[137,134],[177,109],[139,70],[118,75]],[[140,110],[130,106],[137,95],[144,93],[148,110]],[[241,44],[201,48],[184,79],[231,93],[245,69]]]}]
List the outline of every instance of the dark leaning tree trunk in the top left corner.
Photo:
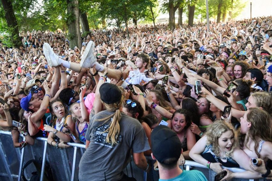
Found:
[{"label": "dark leaning tree trunk in the top left corner", "polygon": [[9,32],[7,32],[11,38],[13,47],[19,48],[21,46],[21,40],[19,37],[19,30],[17,20],[13,11],[11,0],[1,0],[3,9],[5,11],[5,18],[7,21]]}]

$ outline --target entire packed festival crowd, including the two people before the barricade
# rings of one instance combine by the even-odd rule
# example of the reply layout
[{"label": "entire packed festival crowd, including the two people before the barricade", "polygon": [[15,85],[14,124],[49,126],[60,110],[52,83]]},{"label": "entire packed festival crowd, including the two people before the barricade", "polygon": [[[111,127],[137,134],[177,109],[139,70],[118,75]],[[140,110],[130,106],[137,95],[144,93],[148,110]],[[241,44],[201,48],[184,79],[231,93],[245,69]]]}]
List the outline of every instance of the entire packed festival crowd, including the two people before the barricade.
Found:
[{"label": "entire packed festival crowd, including the two people before the barricade", "polygon": [[49,30],[0,44],[0,129],[14,146],[86,144],[79,180],[135,180],[122,172],[131,154],[147,172],[145,155],[157,160],[160,180],[205,180],[186,160],[222,180],[271,176],[272,17],[129,33],[92,30],[81,49]]}]

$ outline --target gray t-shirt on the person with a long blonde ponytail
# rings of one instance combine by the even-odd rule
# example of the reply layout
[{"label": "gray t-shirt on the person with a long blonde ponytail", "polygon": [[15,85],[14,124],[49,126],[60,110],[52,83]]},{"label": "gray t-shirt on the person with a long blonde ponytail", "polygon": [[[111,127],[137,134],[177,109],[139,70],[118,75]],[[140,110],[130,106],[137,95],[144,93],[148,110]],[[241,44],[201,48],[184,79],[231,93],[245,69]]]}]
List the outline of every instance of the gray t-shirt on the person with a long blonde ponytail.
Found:
[{"label": "gray t-shirt on the person with a long blonde ponytail", "polygon": [[[118,144],[106,143],[108,129],[112,119],[96,121],[114,112],[101,111],[90,120],[85,138],[90,141],[89,147],[79,163],[79,180],[118,180],[123,176],[122,170],[130,161],[130,151],[141,153],[150,149],[147,136],[141,123],[122,113],[119,121],[120,133]],[[105,124],[103,124],[105,123]],[[106,177],[106,178],[105,178]]]}]

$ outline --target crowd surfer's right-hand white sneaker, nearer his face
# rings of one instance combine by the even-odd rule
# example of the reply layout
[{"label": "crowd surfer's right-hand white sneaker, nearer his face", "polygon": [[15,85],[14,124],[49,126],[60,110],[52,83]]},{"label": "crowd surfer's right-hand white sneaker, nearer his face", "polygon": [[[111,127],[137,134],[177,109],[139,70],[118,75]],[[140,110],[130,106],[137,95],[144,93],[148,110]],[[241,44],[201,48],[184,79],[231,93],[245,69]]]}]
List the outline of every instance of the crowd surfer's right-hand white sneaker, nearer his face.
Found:
[{"label": "crowd surfer's right-hand white sneaker, nearer his face", "polygon": [[91,65],[96,62],[96,56],[93,54],[95,44],[93,41],[89,41],[86,46],[85,52],[81,56],[80,66],[84,68],[90,68]]}]

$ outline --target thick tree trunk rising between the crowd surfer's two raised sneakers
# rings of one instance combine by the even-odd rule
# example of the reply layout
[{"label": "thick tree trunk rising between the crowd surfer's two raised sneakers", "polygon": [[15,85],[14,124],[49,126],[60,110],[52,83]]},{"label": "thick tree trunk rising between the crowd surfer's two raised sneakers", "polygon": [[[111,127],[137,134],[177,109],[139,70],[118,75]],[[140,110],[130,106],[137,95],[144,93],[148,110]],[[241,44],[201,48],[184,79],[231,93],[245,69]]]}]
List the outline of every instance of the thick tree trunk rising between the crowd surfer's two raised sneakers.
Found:
[{"label": "thick tree trunk rising between the crowd surfer's two raised sneakers", "polygon": [[79,9],[78,0],[67,0],[67,26],[69,30],[70,48],[77,46],[81,49],[81,37],[79,29]]}]

